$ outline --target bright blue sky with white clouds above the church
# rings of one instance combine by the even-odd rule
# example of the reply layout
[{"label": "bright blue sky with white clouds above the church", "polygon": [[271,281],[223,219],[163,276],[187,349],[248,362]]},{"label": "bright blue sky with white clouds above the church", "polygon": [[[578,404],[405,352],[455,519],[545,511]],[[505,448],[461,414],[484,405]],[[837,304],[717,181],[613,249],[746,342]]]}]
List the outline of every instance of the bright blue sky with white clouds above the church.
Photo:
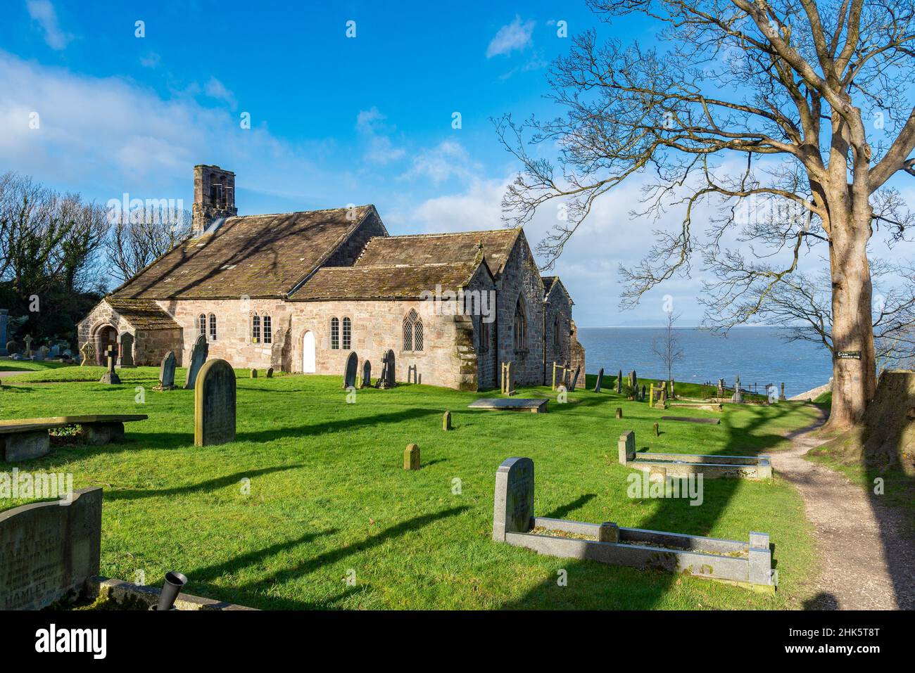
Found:
[{"label": "bright blue sky with white clouds above the church", "polygon": [[[561,112],[544,99],[546,67],[570,42],[556,22],[569,36],[654,35],[599,22],[583,2],[327,5],[6,0],[0,171],[189,208],[192,166],[217,164],[236,173],[241,214],[373,203],[392,233],[495,229],[518,166],[490,117]],[[606,199],[556,267],[579,326],[660,323],[663,294],[684,325],[701,316],[694,280],[619,312],[617,265],[640,259],[658,226],[630,221],[637,196]],[[527,228],[532,246],[548,226]]]}]

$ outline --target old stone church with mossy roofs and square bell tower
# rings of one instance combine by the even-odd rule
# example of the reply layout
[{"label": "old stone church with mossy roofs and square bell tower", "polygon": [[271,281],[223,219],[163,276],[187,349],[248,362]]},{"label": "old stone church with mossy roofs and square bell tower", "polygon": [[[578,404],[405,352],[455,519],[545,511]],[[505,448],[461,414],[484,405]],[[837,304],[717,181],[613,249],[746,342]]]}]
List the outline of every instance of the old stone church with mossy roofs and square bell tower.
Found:
[{"label": "old stone church with mossy roofs and square bell tower", "polygon": [[92,309],[80,346],[101,363],[129,333],[135,364],[182,364],[204,336],[235,368],[334,375],[354,351],[373,377],[393,350],[396,380],[459,390],[498,388],[501,362],[519,385],[584,372],[572,298],[523,230],[391,236],[371,205],[239,217],[234,195],[195,166],[193,234]]}]

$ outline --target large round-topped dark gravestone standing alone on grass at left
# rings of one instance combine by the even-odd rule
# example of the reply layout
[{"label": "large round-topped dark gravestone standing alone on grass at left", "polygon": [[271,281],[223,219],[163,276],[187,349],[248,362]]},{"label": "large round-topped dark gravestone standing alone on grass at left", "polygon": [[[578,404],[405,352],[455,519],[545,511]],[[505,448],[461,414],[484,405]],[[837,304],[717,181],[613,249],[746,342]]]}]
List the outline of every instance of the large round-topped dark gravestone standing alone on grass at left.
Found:
[{"label": "large round-topped dark gravestone standing alone on grass at left", "polygon": [[194,445],[235,441],[235,371],[222,359],[207,362],[194,390]]}]

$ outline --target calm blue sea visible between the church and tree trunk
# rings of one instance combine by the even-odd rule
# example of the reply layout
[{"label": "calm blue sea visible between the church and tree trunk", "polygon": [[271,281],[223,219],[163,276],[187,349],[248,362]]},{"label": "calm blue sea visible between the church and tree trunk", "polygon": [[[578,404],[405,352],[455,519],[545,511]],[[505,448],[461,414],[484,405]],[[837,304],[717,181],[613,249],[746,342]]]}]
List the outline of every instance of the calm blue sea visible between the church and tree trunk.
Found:
[{"label": "calm blue sea visible between the church and tree trunk", "polygon": [[[785,395],[799,395],[829,381],[833,361],[822,345],[809,341],[788,341],[784,327],[734,327],[727,336],[703,329],[682,327],[673,330],[683,358],[673,364],[673,379],[690,383],[725,379],[728,386],[740,375],[740,386],[757,387],[765,393],[766,385],[785,384]],[[587,371],[596,374],[601,367],[605,376],[623,375],[635,369],[646,379],[665,379],[664,364],[652,350],[663,342],[666,329],[660,327],[580,327],[578,340],[585,347]]]}]

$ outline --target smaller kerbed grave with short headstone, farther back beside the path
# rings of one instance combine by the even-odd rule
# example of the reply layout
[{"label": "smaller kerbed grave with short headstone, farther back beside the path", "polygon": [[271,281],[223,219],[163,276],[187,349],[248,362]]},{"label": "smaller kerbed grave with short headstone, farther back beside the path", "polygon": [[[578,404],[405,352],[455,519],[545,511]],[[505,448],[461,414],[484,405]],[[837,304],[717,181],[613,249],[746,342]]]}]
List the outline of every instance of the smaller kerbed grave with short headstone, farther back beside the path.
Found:
[{"label": "smaller kerbed grave with short headstone, farther back beside the path", "polygon": [[649,475],[703,475],[705,479],[770,479],[772,476],[769,455],[637,454],[635,431],[632,430],[619,435],[617,450],[620,465]]}]

